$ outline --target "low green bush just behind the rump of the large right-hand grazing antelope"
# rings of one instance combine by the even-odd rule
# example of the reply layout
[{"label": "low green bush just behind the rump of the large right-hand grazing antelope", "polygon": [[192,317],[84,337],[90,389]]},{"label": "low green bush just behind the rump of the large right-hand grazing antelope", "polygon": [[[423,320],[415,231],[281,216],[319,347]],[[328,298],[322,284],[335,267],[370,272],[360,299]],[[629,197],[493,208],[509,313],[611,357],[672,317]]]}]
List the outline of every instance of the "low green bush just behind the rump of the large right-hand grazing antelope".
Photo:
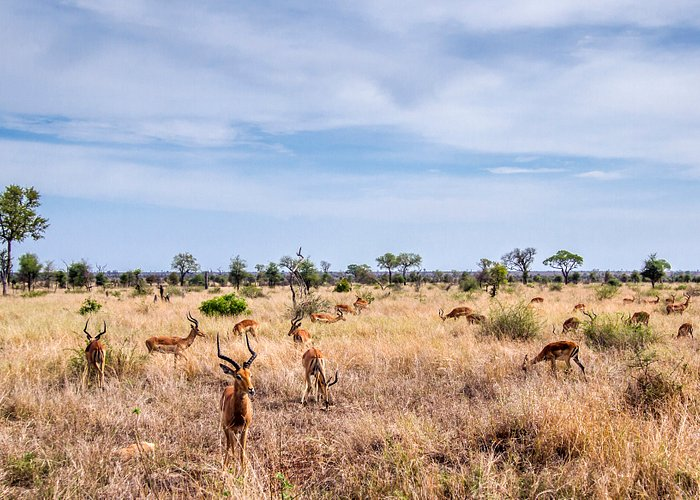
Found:
[{"label": "low green bush just behind the rump of the large right-hand grazing antelope", "polygon": [[583,335],[586,343],[597,349],[643,349],[658,340],[648,326],[609,314],[585,322]]}]

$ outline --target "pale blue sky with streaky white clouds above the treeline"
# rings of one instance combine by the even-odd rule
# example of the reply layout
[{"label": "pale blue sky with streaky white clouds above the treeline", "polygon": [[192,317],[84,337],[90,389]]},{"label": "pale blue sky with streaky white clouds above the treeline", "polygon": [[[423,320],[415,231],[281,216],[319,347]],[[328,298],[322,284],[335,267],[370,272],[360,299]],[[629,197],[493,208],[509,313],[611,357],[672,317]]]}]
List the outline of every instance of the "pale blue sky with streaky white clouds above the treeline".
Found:
[{"label": "pale blue sky with streaky white clouds above the treeline", "polygon": [[8,0],[0,44],[15,255],[700,268],[697,2]]}]

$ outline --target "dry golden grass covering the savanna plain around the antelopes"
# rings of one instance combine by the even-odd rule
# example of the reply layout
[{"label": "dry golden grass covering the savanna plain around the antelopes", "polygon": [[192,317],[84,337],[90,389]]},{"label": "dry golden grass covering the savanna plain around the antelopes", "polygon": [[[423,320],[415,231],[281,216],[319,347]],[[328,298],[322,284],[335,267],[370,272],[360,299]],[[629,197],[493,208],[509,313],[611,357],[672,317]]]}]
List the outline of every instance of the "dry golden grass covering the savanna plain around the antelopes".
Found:
[{"label": "dry golden grass covering the savanna plain around the antelopes", "polygon": [[[218,367],[216,333],[224,351],[247,359],[230,335],[234,319],[197,312],[211,296],[190,293],[170,304],[94,294],[103,304],[93,319],[107,322],[106,388],[80,387],[87,294],[49,294],[0,301],[0,497],[694,497],[700,493],[700,355],[697,341],[675,340],[678,326],[697,323],[700,304],[681,317],[662,303],[625,304],[647,287],[598,301],[589,286],[563,291],[515,286],[503,304],[527,303],[541,321],[532,342],[480,335],[464,319],[438,318],[438,308],[469,305],[487,316],[486,294],[424,286],[375,300],[360,316],[303,326],[328,367],[340,370],[335,405],[300,405],[301,355],[286,335],[289,294],[266,290],[250,299],[260,322],[252,340],[258,358],[254,420],[243,476],[222,469],[218,402],[230,381]],[[353,294],[322,290],[332,303]],[[680,296],[682,292],[674,292]],[[526,375],[526,353],[560,340],[574,304],[598,314],[643,310],[662,336],[654,345],[656,372],[678,384],[654,412],[630,405],[626,391],[638,370],[631,353],[595,351],[580,334],[578,369],[554,378],[544,364]],[[154,335],[185,336],[188,311],[198,338],[173,366],[172,356],[146,356]],[[240,318],[237,318],[240,319]],[[556,332],[552,326],[556,325]],[[155,444],[153,458],[120,459],[139,437]]]}]

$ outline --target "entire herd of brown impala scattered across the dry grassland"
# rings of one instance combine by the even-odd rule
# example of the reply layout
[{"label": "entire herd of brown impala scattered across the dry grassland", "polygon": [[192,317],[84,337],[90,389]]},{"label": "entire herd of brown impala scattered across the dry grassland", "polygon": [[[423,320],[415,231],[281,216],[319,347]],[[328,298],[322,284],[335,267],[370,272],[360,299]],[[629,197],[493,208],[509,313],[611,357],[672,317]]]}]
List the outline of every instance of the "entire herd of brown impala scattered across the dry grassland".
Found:
[{"label": "entire herd of brown impala scattered across the dry grassland", "polygon": [[[687,293],[685,302],[676,303],[675,297],[666,300],[666,313],[680,313],[689,307],[691,294]],[[529,301],[529,304],[541,304],[544,302],[542,297],[534,297]],[[623,303],[634,302],[634,299],[624,298]],[[655,299],[645,299],[645,304],[658,304],[660,297]],[[358,297],[352,306],[347,304],[335,305],[335,316],[327,313],[310,314],[310,320],[313,323],[336,323],[338,321],[346,321],[345,314],[358,315],[362,310],[367,309],[369,303]],[[595,313],[589,311],[585,304],[578,303],[573,307],[574,312],[582,312],[588,316],[591,321],[595,320]],[[487,321],[486,316],[476,313],[471,307],[459,306],[453,308],[449,313],[445,314],[443,309],[438,310],[439,318],[445,322],[447,319],[457,320],[464,317],[468,323],[476,324]],[[292,337],[294,343],[302,346],[312,341],[311,333],[301,327],[303,312],[297,311],[291,319],[291,326],[288,336]],[[634,314],[628,315],[623,320],[627,324],[649,324],[650,314],[646,311],[637,311]],[[204,337],[205,334],[199,328],[199,322],[187,313],[187,320],[190,322],[190,332],[186,337],[176,336],[161,336],[151,337],[146,340],[146,348],[149,354],[156,352],[163,354],[172,354],[177,366],[178,358],[186,358],[184,351],[188,349],[197,337]],[[103,329],[93,338],[88,332],[89,320],[85,323],[83,332],[87,338],[87,346],[85,348],[85,369],[82,377],[82,385],[85,386],[86,378],[89,372],[97,373],[98,385],[104,388],[104,370],[105,370],[105,345],[100,341],[100,338],[107,332],[107,324],[103,322]],[[562,325],[562,333],[575,332],[581,325],[581,320],[576,317],[570,317],[564,321]],[[219,334],[216,334],[216,349],[217,357],[222,362],[219,366],[224,374],[230,375],[233,378],[233,384],[224,388],[221,395],[219,410],[221,412],[221,427],[226,439],[226,449],[224,451],[223,463],[226,467],[230,461],[230,456],[235,455],[236,449],[239,450],[240,466],[242,470],[246,467],[246,443],[248,431],[253,420],[253,404],[252,398],[255,395],[250,367],[256,359],[257,354],[250,345],[249,337],[257,336],[259,323],[252,319],[239,321],[233,326],[233,333],[237,336],[245,336],[246,346],[250,353],[250,357],[243,365],[239,365],[232,358],[224,355],[221,352],[221,343]],[[556,328],[552,327],[552,332],[556,334]],[[677,338],[690,337],[693,338],[693,325],[691,323],[683,323],[678,328]],[[580,348],[576,342],[570,340],[560,340],[548,343],[532,360],[528,355],[525,355],[521,365],[522,370],[528,371],[533,365],[542,361],[549,362],[554,376],[557,376],[556,362],[563,361],[567,366],[567,371],[571,369],[571,361],[573,360],[581,369],[584,380],[586,379],[586,370],[579,360]],[[315,401],[323,400],[325,408],[328,409],[331,404],[330,388],[338,382],[338,370],[335,370],[335,377],[330,380],[326,372],[326,358],[321,351],[314,346],[309,347],[302,355],[302,366],[304,370],[304,389],[301,396],[301,404],[306,405],[309,396],[313,395]]]}]

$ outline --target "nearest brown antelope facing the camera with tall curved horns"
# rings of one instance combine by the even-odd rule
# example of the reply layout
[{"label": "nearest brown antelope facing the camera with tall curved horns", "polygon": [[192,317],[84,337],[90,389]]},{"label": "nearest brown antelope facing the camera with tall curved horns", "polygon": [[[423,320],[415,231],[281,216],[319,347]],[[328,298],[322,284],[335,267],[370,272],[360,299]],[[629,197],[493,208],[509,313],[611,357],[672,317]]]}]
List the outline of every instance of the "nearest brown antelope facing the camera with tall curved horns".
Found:
[{"label": "nearest brown antelope facing the camera with tall curved horns", "polygon": [[250,348],[248,334],[245,335],[245,342],[250,351],[250,358],[243,363],[243,366],[236,363],[233,359],[221,354],[221,345],[219,344],[219,334],[216,334],[216,351],[219,359],[229,363],[233,369],[223,363],[219,366],[225,374],[231,375],[234,378],[233,385],[229,385],[221,394],[221,427],[224,429],[226,436],[226,451],[224,451],[224,467],[228,465],[228,451],[231,450],[231,456],[235,453],[235,446],[241,450],[241,469],[245,471],[245,445],[248,440],[248,428],[253,420],[253,404],[250,398],[255,396],[255,388],[250,379],[250,365],[255,360],[257,354]]}]

